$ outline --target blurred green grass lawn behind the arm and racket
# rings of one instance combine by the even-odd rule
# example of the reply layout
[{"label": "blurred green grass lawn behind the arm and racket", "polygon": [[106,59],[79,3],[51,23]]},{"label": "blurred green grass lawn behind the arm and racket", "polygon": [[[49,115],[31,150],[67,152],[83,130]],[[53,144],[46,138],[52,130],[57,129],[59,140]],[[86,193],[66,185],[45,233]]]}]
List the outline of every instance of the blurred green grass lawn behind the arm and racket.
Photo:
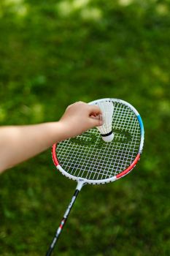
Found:
[{"label": "blurred green grass lawn behind the arm and racket", "polygon": [[[55,121],[103,97],[144,121],[139,165],[82,189],[54,255],[169,255],[169,28],[169,0],[1,0],[1,125]],[[45,255],[75,185],[50,149],[3,173],[0,255]]]}]

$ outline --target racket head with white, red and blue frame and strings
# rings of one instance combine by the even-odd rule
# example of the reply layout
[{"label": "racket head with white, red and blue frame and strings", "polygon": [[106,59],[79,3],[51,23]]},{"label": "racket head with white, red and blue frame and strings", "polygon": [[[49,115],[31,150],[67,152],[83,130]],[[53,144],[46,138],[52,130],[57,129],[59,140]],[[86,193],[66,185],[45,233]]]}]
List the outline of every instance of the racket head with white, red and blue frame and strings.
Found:
[{"label": "racket head with white, red and blue frame and strings", "polygon": [[122,99],[104,98],[114,105],[112,132],[114,139],[104,143],[98,129],[54,144],[55,167],[67,178],[86,184],[105,184],[122,178],[139,162],[144,146],[144,126],[138,111]]}]

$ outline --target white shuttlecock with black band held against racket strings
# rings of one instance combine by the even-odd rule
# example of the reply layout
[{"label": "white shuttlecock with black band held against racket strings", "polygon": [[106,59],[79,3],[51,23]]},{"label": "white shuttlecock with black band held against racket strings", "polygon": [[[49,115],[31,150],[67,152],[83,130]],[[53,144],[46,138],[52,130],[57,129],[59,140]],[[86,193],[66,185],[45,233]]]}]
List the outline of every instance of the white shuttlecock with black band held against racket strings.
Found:
[{"label": "white shuttlecock with black band held against racket strings", "polygon": [[96,127],[101,133],[101,137],[105,142],[111,142],[114,138],[112,132],[112,116],[114,105],[109,101],[102,101],[97,103],[98,107],[102,112],[102,121],[103,124],[100,127]]}]

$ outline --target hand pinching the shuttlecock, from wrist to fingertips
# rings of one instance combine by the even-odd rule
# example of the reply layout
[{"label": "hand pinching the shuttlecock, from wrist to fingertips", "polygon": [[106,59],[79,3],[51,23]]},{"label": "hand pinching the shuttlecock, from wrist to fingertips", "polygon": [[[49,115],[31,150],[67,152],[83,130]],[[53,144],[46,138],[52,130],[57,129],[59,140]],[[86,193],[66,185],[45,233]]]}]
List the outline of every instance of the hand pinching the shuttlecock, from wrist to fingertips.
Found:
[{"label": "hand pinching the shuttlecock, from wrist to fingertips", "polygon": [[86,130],[103,124],[101,110],[96,105],[88,105],[85,102],[76,102],[66,108],[59,123],[66,138],[81,135]]}]

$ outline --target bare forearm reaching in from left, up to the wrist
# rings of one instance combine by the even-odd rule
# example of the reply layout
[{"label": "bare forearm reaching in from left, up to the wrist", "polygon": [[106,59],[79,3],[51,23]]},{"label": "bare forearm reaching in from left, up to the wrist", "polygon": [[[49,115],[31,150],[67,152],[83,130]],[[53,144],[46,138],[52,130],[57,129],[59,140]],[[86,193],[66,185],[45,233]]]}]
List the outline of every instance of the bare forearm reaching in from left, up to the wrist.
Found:
[{"label": "bare forearm reaching in from left, up to the wrist", "polygon": [[60,122],[0,128],[0,172],[66,139]]}]

